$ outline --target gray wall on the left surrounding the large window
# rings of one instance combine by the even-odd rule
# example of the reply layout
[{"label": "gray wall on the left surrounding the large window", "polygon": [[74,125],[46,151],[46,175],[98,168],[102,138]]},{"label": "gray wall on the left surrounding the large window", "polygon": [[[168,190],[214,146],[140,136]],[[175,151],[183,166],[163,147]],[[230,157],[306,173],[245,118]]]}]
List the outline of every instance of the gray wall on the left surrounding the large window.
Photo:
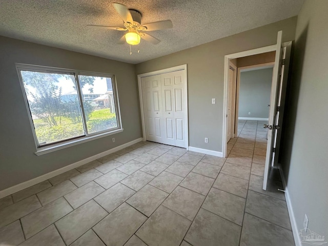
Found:
[{"label": "gray wall on the left surrounding the large window", "polygon": [[[0,190],[141,137],[134,65],[2,36],[0,54]],[[124,131],[36,156],[15,63],[115,74]]]}]

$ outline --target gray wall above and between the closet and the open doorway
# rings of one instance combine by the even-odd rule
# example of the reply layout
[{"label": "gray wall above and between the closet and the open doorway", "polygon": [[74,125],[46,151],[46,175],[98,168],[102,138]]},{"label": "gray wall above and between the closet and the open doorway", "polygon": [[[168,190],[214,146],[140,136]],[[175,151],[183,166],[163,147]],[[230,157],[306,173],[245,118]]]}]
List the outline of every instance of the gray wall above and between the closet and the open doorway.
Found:
[{"label": "gray wall above and between the closet and the open doorway", "polygon": [[[294,40],[297,17],[281,20],[211,43],[196,46],[136,65],[136,73],[146,73],[182,64],[188,66],[189,146],[222,151],[224,55]],[[211,104],[216,98],[216,104]],[[209,138],[208,144],[204,137]]]}]

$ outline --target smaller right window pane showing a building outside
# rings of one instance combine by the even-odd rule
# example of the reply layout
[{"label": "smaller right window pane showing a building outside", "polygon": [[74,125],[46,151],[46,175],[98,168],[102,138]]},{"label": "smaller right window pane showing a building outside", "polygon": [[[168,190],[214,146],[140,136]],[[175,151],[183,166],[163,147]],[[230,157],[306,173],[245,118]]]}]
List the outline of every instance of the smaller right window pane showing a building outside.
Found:
[{"label": "smaller right window pane showing a building outside", "polygon": [[88,133],[117,128],[112,78],[78,75]]}]

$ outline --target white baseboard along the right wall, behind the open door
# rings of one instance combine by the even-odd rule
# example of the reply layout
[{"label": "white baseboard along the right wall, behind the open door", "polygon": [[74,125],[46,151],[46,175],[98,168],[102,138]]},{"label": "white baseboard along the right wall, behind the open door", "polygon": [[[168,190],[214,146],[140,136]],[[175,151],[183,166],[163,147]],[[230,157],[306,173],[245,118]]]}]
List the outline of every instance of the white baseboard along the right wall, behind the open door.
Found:
[{"label": "white baseboard along the right wall, behind the open door", "polygon": [[282,171],[280,163],[278,164],[278,169],[279,169],[279,173],[281,176],[282,186],[283,186],[283,189],[285,190],[285,199],[286,199],[286,203],[287,203],[289,218],[290,218],[291,225],[292,225],[292,231],[293,231],[295,245],[301,246],[301,239],[298,234],[299,230],[298,230],[297,224],[296,224],[296,219],[295,219],[295,215],[294,215],[291,197],[289,196],[288,187],[286,184],[285,176],[283,176],[283,171]]}]

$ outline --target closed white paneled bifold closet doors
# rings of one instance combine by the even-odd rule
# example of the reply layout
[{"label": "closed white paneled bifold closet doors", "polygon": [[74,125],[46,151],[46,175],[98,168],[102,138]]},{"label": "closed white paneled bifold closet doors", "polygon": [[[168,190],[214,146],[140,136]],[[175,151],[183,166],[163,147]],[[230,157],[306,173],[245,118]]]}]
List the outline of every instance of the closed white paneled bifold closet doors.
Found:
[{"label": "closed white paneled bifold closet doors", "polygon": [[187,148],[183,71],[142,77],[141,83],[147,140]]}]

